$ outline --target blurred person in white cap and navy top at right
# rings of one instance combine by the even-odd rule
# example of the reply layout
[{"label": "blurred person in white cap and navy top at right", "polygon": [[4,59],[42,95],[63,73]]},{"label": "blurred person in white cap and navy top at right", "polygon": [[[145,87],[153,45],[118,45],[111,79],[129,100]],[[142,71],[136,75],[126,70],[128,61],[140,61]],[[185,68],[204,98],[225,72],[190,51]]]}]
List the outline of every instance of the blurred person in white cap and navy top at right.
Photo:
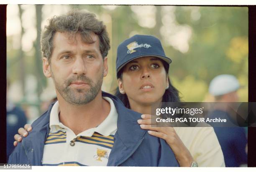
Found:
[{"label": "blurred person in white cap and navy top at right", "polygon": [[[240,84],[233,75],[218,75],[212,79],[209,85],[209,92],[215,97],[215,102],[239,102],[237,94]],[[225,103],[225,104],[224,104]],[[218,106],[210,112],[210,118],[228,118],[236,124],[236,117],[231,115],[225,106]],[[226,167],[240,167],[247,164],[246,145],[247,138],[244,127],[214,127],[214,131],[220,142],[223,151]]]}]

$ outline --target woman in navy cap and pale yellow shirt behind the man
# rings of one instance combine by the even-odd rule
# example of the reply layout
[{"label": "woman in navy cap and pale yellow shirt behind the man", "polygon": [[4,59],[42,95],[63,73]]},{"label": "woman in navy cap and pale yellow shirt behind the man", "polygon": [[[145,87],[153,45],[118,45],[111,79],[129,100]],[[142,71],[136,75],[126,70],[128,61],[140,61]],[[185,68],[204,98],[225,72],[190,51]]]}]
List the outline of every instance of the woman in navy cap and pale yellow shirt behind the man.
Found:
[{"label": "woman in navy cap and pale yellow shirt behind the man", "polygon": [[[168,76],[170,60],[161,42],[153,36],[135,35],[118,46],[116,96],[124,105],[140,112],[141,128],[160,137],[172,148],[181,167],[225,167],[223,154],[211,127],[151,127],[151,106],[179,102],[179,94]],[[30,125],[25,126],[30,131]],[[23,128],[19,134],[28,134]],[[15,140],[21,137],[15,135]],[[17,142],[14,143],[15,145]]]}]

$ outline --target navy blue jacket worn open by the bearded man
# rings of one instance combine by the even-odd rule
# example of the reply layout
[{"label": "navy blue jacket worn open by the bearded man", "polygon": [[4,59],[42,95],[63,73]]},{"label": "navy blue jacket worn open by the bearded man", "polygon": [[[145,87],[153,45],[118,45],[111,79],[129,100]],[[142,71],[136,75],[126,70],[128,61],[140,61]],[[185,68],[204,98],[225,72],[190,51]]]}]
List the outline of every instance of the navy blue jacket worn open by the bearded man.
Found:
[{"label": "navy blue jacket worn open by the bearded man", "polygon": [[[114,145],[109,155],[108,166],[139,167],[178,167],[172,149],[165,140],[159,139],[142,130],[137,120],[141,114],[127,109],[115,96],[102,92],[103,97],[110,97],[118,112],[117,132]],[[33,122],[32,132],[18,144],[9,157],[9,164],[42,165],[44,142],[49,133],[50,112],[53,104],[41,117]]]}]

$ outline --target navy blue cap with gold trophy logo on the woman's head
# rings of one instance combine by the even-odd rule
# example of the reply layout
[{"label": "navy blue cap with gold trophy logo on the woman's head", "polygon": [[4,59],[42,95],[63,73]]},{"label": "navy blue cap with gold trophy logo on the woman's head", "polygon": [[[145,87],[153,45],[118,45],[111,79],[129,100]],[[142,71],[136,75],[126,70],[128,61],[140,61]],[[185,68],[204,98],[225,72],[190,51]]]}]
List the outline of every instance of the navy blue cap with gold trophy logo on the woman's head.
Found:
[{"label": "navy blue cap with gold trophy logo on the woman's head", "polygon": [[159,39],[150,35],[134,35],[118,46],[116,73],[131,60],[144,56],[158,57],[168,64],[172,62],[166,57]]}]

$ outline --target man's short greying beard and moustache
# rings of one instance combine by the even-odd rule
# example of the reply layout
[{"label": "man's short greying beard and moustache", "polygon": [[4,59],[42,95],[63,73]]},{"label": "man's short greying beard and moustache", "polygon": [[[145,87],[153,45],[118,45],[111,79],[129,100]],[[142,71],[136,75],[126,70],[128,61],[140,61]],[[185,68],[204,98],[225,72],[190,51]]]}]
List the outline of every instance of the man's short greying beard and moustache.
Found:
[{"label": "man's short greying beard and moustache", "polygon": [[[98,92],[101,90],[101,85],[103,82],[103,72],[96,84],[85,75],[73,75],[72,77],[65,80],[63,85],[56,82],[52,72],[51,77],[54,81],[56,90],[58,90],[59,94],[64,98],[64,100],[72,105],[85,105],[94,100]],[[78,80],[88,84],[90,86],[90,89],[87,91],[83,91],[83,89],[76,89],[70,87],[70,84],[72,82],[76,82]]]}]

